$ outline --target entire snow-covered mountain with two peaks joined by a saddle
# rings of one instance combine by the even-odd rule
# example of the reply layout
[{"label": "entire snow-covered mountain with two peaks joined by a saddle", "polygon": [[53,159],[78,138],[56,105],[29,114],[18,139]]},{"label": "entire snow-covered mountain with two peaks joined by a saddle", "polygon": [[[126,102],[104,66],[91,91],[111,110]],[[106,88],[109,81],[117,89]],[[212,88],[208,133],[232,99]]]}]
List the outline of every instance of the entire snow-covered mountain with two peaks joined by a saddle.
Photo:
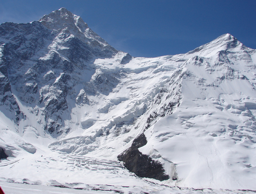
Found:
[{"label": "entire snow-covered mountain with two peaks joined by a saddle", "polygon": [[0,177],[133,193],[256,190],[255,84],[256,50],[230,34],[133,58],[65,8],[3,23]]}]

